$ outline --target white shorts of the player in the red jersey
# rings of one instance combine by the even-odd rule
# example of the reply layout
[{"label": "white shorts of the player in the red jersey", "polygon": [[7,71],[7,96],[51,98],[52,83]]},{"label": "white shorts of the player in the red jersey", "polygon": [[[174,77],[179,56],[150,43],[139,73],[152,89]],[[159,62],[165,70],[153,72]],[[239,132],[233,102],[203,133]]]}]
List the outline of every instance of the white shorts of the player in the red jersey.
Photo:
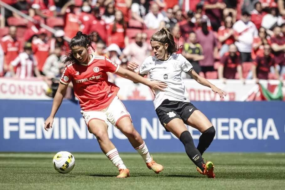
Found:
[{"label": "white shorts of the player in the red jersey", "polygon": [[130,117],[130,113],[127,111],[124,104],[119,100],[118,96],[116,96],[111,104],[100,111],[83,111],[81,110],[87,127],[89,127],[89,122],[93,119],[98,119],[104,121],[108,125],[108,121],[113,125],[117,126],[118,122],[124,117]]}]

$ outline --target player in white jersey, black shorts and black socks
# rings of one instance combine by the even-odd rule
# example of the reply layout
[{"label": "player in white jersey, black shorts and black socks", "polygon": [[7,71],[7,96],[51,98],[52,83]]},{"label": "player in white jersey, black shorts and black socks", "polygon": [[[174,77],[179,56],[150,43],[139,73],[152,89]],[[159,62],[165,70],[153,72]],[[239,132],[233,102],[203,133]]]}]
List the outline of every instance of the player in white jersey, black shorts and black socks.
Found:
[{"label": "player in white jersey, black shorts and black socks", "polygon": [[[155,56],[149,56],[139,69],[139,75],[149,74],[150,80],[164,81],[167,88],[164,91],[157,90],[154,99],[154,107],[161,124],[166,131],[172,132],[185,146],[188,157],[197,166],[197,171],[208,177],[215,178],[214,164],[205,163],[202,154],[210,146],[215,136],[215,128],[208,118],[190,103],[181,77],[185,72],[194,80],[204,86],[210,87],[220,97],[226,95],[215,85],[205,78],[199,76],[192,65],[181,54],[175,54],[178,46],[174,42],[168,28],[162,28],[154,33],[150,44]],[[128,69],[137,69],[136,63],[129,63]],[[194,146],[193,138],[186,126],[198,129],[202,135],[197,148]]]}]

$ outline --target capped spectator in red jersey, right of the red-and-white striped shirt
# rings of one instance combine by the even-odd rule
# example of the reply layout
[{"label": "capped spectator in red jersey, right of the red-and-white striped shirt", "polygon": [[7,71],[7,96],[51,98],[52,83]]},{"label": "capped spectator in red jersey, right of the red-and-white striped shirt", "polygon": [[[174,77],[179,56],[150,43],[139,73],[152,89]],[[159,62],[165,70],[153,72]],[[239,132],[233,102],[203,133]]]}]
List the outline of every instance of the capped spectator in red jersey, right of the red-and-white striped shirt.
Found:
[{"label": "capped spectator in red jersey, right of the red-and-white striped shirt", "polygon": [[47,31],[44,28],[39,30],[38,38],[32,41],[34,57],[40,72],[43,71],[44,62],[49,56],[49,43],[47,41]]}]

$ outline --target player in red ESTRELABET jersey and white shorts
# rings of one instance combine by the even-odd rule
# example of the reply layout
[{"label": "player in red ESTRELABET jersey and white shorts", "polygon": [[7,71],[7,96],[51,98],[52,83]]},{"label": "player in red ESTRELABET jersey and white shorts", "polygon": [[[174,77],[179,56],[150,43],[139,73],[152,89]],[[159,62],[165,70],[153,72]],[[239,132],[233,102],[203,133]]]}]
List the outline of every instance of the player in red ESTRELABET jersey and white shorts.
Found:
[{"label": "player in red ESTRELABET jersey and white shorts", "polygon": [[51,113],[45,121],[44,128],[48,130],[52,127],[54,116],[71,81],[75,96],[79,99],[81,114],[85,119],[88,130],[96,136],[101,150],[119,169],[120,173],[117,177],[129,177],[130,173],[119,156],[116,147],[108,137],[108,121],[127,136],[132,146],[143,157],[149,169],[152,169],[155,173],[161,172],[163,166],[153,161],[145,142],[132,125],[129,112],[117,97],[119,88],[108,82],[106,72],[116,73],[124,78],[140,82],[149,86],[153,92],[163,91],[163,88],[166,87],[165,83],[147,80],[132,71],[123,69],[104,56],[88,54],[88,48],[92,48],[91,43],[91,37],[81,32],[78,32],[71,40],[71,52],[64,61],[68,64],[61,76]]}]

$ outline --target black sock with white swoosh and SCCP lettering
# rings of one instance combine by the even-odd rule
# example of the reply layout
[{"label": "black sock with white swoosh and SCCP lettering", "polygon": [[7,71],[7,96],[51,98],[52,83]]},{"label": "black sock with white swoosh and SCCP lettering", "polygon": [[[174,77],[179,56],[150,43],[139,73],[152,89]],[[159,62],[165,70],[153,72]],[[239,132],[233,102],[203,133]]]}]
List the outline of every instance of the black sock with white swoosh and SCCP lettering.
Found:
[{"label": "black sock with white swoosh and SCCP lettering", "polygon": [[203,164],[205,164],[201,153],[199,150],[195,147],[193,138],[189,131],[184,131],[180,135],[180,141],[184,144],[186,154],[194,162],[194,164],[199,167],[202,171],[204,171],[204,168],[202,167]]}]

